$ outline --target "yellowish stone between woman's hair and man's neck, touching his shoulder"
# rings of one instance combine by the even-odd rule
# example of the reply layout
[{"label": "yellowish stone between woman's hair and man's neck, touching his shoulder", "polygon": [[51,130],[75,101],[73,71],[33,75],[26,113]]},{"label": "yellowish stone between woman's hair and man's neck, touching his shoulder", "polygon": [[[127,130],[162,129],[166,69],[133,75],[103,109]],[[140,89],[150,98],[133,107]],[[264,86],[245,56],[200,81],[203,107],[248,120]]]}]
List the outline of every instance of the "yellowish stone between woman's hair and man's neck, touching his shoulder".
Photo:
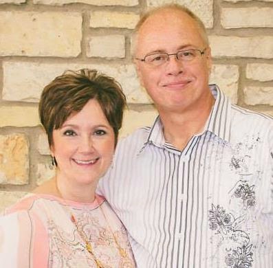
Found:
[{"label": "yellowish stone between woman's hair and man's neck, touching his shoulder", "polygon": [[126,137],[133,133],[135,129],[142,126],[152,126],[157,114],[155,109],[141,112],[126,110],[124,113],[122,129],[120,130],[120,137]]}]

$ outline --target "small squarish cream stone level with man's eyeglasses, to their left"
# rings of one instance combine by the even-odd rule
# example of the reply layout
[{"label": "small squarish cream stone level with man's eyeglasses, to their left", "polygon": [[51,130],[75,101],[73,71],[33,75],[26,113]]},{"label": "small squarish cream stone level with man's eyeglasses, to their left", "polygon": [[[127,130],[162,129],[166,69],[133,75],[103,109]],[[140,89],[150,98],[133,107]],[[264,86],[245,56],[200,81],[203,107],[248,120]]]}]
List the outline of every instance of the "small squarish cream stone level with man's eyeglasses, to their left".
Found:
[{"label": "small squarish cream stone level with man's eyeglasses, to their left", "polygon": [[124,58],[125,37],[118,34],[92,36],[89,38],[87,57]]}]

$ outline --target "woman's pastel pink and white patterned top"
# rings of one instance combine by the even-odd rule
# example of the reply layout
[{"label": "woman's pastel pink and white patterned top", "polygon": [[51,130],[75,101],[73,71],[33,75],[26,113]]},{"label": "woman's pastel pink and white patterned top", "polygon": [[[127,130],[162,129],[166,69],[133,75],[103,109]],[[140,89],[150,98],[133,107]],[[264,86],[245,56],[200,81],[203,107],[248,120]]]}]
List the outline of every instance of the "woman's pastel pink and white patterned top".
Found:
[{"label": "woman's pastel pink and white patterned top", "polygon": [[104,268],[135,267],[127,231],[103,197],[77,203],[45,194],[30,194],[3,212],[0,267],[96,267],[71,213]]}]

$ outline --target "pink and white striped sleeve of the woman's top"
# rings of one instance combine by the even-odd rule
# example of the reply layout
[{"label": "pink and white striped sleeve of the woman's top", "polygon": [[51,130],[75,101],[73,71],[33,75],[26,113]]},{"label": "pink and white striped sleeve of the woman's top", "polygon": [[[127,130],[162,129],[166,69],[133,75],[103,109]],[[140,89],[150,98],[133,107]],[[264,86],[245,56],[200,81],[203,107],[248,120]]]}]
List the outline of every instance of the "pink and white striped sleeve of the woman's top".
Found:
[{"label": "pink and white striped sleeve of the woman's top", "polygon": [[41,221],[28,210],[0,217],[0,263],[9,268],[48,266],[48,239]]}]

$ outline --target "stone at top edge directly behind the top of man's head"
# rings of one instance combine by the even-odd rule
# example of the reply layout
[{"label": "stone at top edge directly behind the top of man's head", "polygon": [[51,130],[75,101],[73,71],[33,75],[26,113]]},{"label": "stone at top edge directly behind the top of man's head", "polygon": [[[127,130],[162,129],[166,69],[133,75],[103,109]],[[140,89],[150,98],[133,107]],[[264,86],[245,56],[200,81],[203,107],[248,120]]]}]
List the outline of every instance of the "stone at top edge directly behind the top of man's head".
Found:
[{"label": "stone at top edge directly behind the top of man's head", "polygon": [[213,27],[213,0],[147,0],[148,8],[157,7],[165,3],[185,5],[199,16],[206,28]]}]

